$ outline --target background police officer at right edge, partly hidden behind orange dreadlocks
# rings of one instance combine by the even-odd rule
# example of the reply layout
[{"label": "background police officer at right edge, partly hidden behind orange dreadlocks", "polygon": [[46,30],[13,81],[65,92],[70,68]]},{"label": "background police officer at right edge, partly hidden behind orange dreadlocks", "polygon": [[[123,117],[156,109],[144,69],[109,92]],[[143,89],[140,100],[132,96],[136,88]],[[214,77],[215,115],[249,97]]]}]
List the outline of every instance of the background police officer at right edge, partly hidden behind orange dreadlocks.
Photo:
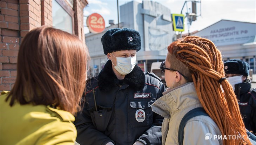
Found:
[{"label": "background police officer at right edge, partly hidden behind orange dreadlocks", "polygon": [[226,78],[237,96],[245,128],[256,133],[256,89],[251,88],[247,62],[233,59],[224,62]]}]

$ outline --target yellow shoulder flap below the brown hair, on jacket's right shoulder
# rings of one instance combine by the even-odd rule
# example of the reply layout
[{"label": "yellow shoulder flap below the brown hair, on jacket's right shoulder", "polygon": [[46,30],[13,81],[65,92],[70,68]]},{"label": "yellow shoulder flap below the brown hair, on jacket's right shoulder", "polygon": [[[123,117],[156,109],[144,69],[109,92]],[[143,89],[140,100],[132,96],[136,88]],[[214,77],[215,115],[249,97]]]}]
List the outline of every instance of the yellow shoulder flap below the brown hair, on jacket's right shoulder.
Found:
[{"label": "yellow shoulder flap below the brown hair, on jacket's right shoulder", "polygon": [[68,111],[55,109],[50,105],[48,105],[46,109],[52,116],[61,119],[63,122],[75,121],[75,117]]}]

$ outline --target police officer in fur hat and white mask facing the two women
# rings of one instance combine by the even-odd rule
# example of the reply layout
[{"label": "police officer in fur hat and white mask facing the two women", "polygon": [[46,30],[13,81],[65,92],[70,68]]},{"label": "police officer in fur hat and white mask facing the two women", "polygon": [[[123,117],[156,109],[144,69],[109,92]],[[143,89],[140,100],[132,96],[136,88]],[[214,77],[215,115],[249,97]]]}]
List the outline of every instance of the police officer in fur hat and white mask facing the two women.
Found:
[{"label": "police officer in fur hat and white mask facing the two women", "polygon": [[108,61],[87,80],[85,105],[74,122],[81,145],[161,145],[163,118],[151,110],[164,85],[136,64],[139,32],[114,28],[101,38]]}]

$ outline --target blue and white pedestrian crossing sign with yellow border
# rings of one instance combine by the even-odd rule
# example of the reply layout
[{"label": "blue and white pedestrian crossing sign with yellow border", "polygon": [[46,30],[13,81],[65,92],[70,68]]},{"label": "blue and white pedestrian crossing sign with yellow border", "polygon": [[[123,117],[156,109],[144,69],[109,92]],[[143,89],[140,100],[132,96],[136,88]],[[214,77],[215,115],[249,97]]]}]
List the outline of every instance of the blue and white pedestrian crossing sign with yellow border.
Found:
[{"label": "blue and white pedestrian crossing sign with yellow border", "polygon": [[184,31],[184,15],[182,14],[172,14],[173,19],[173,30],[183,32]]}]

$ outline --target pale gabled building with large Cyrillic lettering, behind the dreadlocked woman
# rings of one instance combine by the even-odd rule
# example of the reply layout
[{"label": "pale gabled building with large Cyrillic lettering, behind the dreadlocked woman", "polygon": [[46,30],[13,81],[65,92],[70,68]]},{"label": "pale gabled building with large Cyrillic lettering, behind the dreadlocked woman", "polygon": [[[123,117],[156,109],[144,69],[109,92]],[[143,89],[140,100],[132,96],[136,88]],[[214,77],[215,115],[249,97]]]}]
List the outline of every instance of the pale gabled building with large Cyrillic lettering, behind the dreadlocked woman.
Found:
[{"label": "pale gabled building with large Cyrillic lettering, behind the dreadlocked woman", "polygon": [[221,20],[194,35],[213,41],[224,61],[246,61],[256,74],[256,23]]}]

